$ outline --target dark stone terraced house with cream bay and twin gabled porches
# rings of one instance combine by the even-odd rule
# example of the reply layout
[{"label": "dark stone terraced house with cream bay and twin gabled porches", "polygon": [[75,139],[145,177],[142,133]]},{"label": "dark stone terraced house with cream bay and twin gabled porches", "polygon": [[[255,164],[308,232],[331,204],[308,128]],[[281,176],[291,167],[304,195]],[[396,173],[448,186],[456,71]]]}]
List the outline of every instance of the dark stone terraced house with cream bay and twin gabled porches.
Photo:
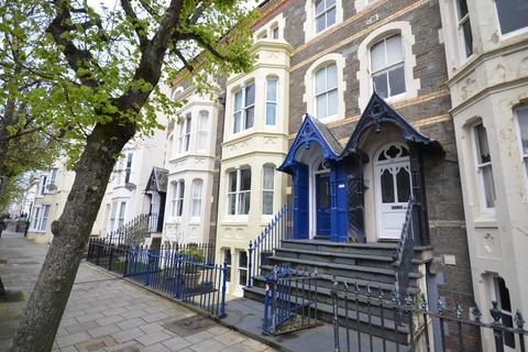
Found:
[{"label": "dark stone terraced house with cream bay and twin gabled porches", "polygon": [[[419,258],[406,273],[409,292],[472,306],[438,1],[266,1],[261,10],[255,69],[226,88],[217,248],[233,292],[257,266],[244,294],[262,298],[275,264],[317,267],[321,287],[337,275],[389,290],[407,216]],[[283,218],[293,219],[290,238],[266,242]]]}]

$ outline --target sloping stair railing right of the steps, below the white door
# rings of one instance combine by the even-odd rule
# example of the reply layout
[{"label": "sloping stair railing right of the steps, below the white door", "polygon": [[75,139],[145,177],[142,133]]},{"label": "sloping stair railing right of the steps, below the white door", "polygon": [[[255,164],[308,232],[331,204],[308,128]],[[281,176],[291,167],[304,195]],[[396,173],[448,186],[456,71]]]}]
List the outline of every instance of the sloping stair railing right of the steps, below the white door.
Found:
[{"label": "sloping stair railing right of the steps, below the white door", "polygon": [[415,231],[417,229],[415,223],[416,209],[416,204],[411,196],[407,206],[405,222],[402,229],[402,237],[399,239],[394,262],[394,265],[396,266],[396,289],[400,299],[407,295],[407,288],[409,287],[409,274],[413,270],[416,238]]}]

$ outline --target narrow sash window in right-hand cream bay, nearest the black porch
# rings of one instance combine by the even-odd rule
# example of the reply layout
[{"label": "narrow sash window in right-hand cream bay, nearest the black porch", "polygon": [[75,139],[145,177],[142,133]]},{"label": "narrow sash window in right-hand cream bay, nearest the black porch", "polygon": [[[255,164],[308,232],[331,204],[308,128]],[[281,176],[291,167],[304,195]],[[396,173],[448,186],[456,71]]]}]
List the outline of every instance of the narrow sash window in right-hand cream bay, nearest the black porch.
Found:
[{"label": "narrow sash window in right-hand cream bay, nearest the black porch", "polygon": [[481,208],[493,210],[495,208],[495,184],[493,180],[492,157],[487,142],[486,128],[481,123],[473,127],[473,140],[475,148],[475,166],[479,178],[479,194],[481,195]]}]

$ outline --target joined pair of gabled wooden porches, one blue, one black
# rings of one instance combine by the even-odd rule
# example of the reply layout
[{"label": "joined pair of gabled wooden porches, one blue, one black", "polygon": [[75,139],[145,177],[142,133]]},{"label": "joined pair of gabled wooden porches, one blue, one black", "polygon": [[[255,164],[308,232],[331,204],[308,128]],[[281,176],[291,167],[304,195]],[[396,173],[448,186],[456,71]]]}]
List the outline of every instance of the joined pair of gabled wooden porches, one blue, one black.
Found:
[{"label": "joined pair of gabled wooden porches, one blue, one black", "polygon": [[[424,152],[443,153],[443,150],[374,92],[344,147],[323,123],[305,116],[278,167],[293,176],[295,239],[323,234],[334,242],[348,242],[349,238],[365,241],[365,165],[373,158],[377,144],[389,143],[393,139],[395,144],[398,140],[399,145],[405,145],[406,167],[413,175],[411,191],[416,201],[422,204],[421,231],[428,237],[421,155]],[[372,194],[370,197],[374,199]]]}]

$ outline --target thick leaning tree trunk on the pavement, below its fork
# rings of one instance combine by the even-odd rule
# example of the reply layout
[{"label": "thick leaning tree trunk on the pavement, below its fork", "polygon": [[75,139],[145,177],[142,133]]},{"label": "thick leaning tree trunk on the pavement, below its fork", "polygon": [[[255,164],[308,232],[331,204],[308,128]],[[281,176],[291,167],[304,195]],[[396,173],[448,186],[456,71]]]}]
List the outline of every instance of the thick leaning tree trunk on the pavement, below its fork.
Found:
[{"label": "thick leaning tree trunk on the pavement, below its fork", "polygon": [[75,165],[75,182],[64,211],[52,223],[54,239],[19,322],[12,352],[48,352],[99,211],[116,157],[134,135],[133,124],[98,124]]}]

